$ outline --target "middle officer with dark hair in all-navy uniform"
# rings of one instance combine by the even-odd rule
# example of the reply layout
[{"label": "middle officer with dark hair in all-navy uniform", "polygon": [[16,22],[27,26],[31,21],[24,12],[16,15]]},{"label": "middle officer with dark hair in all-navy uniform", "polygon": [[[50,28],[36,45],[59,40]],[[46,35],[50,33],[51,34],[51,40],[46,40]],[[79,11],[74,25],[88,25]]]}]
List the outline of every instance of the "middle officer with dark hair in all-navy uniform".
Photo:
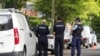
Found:
[{"label": "middle officer with dark hair in all-navy uniform", "polygon": [[65,25],[62,23],[61,17],[57,18],[54,24],[53,32],[55,33],[55,56],[63,56],[63,40]]}]

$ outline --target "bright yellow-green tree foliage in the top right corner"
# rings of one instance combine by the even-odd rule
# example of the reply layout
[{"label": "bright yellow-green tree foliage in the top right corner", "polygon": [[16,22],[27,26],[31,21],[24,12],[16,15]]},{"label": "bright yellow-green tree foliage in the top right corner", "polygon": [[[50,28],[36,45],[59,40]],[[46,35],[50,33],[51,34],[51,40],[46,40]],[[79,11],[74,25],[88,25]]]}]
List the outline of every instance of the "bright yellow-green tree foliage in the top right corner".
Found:
[{"label": "bright yellow-green tree foliage in the top right corner", "polygon": [[80,15],[82,18],[88,19],[88,17],[90,17],[91,14],[99,16],[100,7],[95,0],[85,1],[83,2],[83,5],[85,6],[85,10]]}]

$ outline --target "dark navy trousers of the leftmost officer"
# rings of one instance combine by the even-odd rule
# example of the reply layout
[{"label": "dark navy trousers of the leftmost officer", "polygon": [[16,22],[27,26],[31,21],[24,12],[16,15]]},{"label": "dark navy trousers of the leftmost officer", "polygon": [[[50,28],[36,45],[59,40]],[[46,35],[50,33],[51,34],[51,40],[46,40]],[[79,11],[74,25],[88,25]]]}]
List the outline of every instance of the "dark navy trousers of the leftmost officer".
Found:
[{"label": "dark navy trousers of the leftmost officer", "polygon": [[38,38],[38,49],[39,49],[39,55],[38,56],[42,56],[42,52],[43,52],[43,56],[47,56],[47,51],[48,51],[48,39],[47,36],[39,36]]}]

